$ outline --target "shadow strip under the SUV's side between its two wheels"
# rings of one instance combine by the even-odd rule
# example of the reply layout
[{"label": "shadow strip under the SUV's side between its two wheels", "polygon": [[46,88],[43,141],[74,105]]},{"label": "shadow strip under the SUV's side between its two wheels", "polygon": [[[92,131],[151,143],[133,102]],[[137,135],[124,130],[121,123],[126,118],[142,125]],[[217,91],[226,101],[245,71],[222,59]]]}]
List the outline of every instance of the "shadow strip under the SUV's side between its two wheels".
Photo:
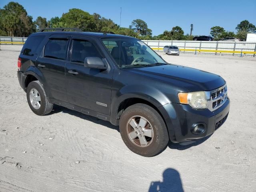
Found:
[{"label": "shadow strip under the SUV's side between its two wheels", "polygon": [[106,126],[108,128],[117,130],[119,132],[119,127],[112,125],[108,121],[101,120],[99,118],[96,118],[96,117],[93,117],[93,116],[90,116],[90,115],[86,115],[86,114],[83,114],[81,112],[71,110],[71,109],[68,109],[68,108],[65,108],[65,107],[62,107],[62,106],[58,106],[58,105],[54,105],[54,108],[53,108],[52,112],[49,115],[60,113],[60,112],[67,113],[67,114],[70,114],[70,115],[74,115],[74,116],[79,117],[81,119],[88,120],[88,121],[94,122],[96,124],[100,124],[102,126]]}]

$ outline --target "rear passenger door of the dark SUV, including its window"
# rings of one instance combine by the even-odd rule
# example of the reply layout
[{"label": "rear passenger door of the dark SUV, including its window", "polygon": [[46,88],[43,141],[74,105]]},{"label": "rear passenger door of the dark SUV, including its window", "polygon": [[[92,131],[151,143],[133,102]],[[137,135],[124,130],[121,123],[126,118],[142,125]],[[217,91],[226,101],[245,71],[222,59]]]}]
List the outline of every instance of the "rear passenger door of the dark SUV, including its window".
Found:
[{"label": "rear passenger door of the dark SUV, including its window", "polygon": [[70,36],[53,34],[44,46],[44,52],[36,60],[44,86],[50,91],[51,98],[67,102],[65,84],[65,65]]}]

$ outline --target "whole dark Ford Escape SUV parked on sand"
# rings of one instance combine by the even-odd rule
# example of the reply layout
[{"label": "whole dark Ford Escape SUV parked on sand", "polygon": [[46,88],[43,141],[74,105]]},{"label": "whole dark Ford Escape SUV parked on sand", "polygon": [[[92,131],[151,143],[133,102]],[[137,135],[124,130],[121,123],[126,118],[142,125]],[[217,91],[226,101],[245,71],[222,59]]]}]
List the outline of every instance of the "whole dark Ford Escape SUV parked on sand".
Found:
[{"label": "whole dark Ford Escape SUV parked on sand", "polygon": [[142,156],[159,154],[169,140],[212,134],[230,108],[220,76],[168,64],[141,40],[117,34],[65,28],[31,34],[17,75],[35,114],[56,104],[110,121]]}]

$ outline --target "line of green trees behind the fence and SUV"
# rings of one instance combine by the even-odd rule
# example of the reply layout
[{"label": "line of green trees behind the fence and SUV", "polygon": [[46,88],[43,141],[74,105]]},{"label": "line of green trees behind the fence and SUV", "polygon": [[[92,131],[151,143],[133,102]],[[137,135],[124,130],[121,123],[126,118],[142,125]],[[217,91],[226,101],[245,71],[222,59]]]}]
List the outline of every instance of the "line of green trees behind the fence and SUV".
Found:
[{"label": "line of green trees behind the fence and SUV", "polygon": [[[190,34],[184,34],[180,26],[174,26],[170,31],[166,30],[158,36],[152,36],[152,30],[145,21],[136,19],[131,22],[129,28],[120,27],[111,19],[104,18],[100,14],[89,14],[83,10],[73,8],[61,17],[53,17],[47,20],[39,16],[33,21],[24,7],[16,2],[10,2],[0,9],[0,36],[27,37],[42,28],[76,27],[82,31],[114,32],[126,36],[132,36],[144,40],[192,40],[194,25],[190,25]],[[220,26],[210,29],[210,34],[215,40],[226,37],[246,39],[247,33],[256,32],[256,27],[248,20],[240,22],[236,27],[237,33],[224,30]]]}]

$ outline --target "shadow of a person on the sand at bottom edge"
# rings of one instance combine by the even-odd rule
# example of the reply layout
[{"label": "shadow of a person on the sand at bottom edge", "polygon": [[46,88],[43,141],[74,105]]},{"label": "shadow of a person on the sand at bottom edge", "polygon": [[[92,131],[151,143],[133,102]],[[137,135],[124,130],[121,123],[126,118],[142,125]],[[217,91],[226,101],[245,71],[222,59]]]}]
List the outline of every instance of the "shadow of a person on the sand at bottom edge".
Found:
[{"label": "shadow of a person on the sand at bottom edge", "polygon": [[180,174],[172,168],[163,172],[163,181],[151,182],[148,192],[184,192]]}]

